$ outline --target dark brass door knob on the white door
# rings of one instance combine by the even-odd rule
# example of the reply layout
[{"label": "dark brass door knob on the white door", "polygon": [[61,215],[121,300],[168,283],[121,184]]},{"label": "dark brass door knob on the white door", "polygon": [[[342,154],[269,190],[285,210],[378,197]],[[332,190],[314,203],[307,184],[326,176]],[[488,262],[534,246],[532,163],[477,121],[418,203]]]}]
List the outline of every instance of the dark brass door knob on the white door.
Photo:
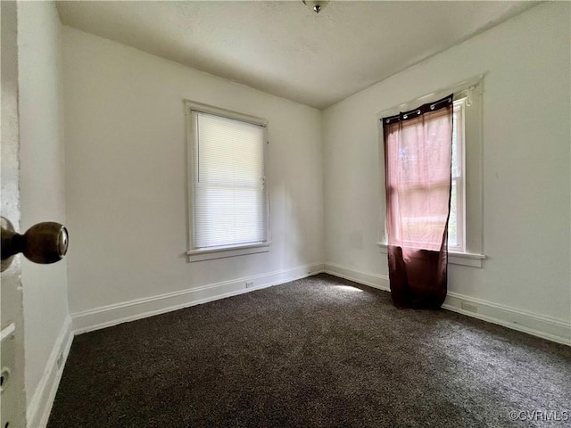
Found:
[{"label": "dark brass door knob on the white door", "polygon": [[24,235],[14,231],[7,218],[0,218],[2,226],[2,272],[10,266],[13,256],[22,252],[26,259],[47,265],[63,259],[68,251],[69,235],[65,226],[53,221],[37,223]]}]

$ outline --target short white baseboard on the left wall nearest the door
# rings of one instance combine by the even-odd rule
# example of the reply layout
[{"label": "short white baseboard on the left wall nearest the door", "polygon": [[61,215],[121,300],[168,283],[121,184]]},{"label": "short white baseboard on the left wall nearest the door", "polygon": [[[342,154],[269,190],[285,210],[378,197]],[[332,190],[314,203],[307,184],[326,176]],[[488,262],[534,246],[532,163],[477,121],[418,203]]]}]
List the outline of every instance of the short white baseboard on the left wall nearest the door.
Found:
[{"label": "short white baseboard on the left wall nearest the door", "polygon": [[[47,359],[44,375],[37,384],[36,391],[26,411],[29,428],[44,428],[52,411],[55,393],[62,379],[63,366],[70,353],[73,334],[71,333],[71,318],[65,317],[62,329],[54,343],[54,348]],[[61,359],[58,361],[58,358]]]}]

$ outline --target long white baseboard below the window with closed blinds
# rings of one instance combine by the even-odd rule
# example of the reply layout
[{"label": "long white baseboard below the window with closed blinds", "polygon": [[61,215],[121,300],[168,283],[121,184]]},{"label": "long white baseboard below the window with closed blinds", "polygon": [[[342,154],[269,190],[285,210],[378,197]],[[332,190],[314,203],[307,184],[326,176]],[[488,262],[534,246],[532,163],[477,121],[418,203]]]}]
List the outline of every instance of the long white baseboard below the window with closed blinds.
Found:
[{"label": "long white baseboard below the window with closed blinds", "polygon": [[[323,272],[323,263],[313,263],[268,274],[203,285],[180,292],[169,292],[144,299],[129,300],[100,308],[83,310],[71,314],[73,333],[91,332],[140,318],[152,317],[171,310],[259,290],[271,285],[287,283],[294,281],[294,279],[316,275],[320,272]],[[250,281],[253,281],[255,286],[246,288],[245,283]]]}]

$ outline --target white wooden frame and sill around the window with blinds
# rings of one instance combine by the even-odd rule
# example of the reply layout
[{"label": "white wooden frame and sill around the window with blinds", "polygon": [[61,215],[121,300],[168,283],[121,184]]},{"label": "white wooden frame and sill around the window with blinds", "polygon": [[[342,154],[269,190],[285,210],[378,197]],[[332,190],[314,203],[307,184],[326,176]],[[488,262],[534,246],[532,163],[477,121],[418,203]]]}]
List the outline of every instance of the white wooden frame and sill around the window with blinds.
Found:
[{"label": "white wooden frame and sill around the window with blinds", "polygon": [[[246,244],[236,244],[219,246],[214,248],[195,248],[194,247],[194,138],[196,136],[195,124],[193,120],[193,111],[199,111],[203,113],[212,114],[215,116],[220,116],[227,119],[239,120],[242,122],[251,123],[253,125],[260,126],[264,129],[264,145],[263,157],[264,157],[264,169],[267,165],[267,144],[268,144],[268,120],[257,118],[255,116],[250,116],[244,113],[239,113],[237,111],[229,111],[226,109],[221,109],[219,107],[214,107],[212,105],[196,103],[194,101],[185,100],[185,111],[186,111],[186,189],[187,189],[187,248],[186,256],[189,262],[203,261],[209,259],[223,259],[227,257],[243,256],[246,254],[256,254],[261,252],[268,252],[271,245],[270,230],[268,230],[267,241],[261,243],[246,243]],[[264,175],[266,171],[264,171]],[[268,212],[268,215],[270,213]],[[270,219],[268,221],[268,229],[270,225]]]}]

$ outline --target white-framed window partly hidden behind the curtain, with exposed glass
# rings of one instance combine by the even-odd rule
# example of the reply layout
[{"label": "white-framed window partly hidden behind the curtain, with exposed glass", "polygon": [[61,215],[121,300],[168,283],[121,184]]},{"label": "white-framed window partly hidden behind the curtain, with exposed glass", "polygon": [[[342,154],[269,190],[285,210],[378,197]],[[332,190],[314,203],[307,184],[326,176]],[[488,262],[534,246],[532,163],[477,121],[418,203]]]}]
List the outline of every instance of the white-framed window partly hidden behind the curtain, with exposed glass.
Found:
[{"label": "white-framed window partly hidden behind the curtain, with exposed glass", "polygon": [[[448,224],[449,260],[453,264],[481,267],[483,254],[482,212],[482,88],[483,78],[474,78],[456,86],[417,98],[378,113],[377,118],[392,116],[399,111],[409,111],[422,103],[454,93],[452,129],[452,188],[451,214]],[[383,128],[379,123],[379,164],[384,169]],[[384,175],[382,174],[384,179]],[[383,212],[382,228],[385,230],[385,194],[381,184]],[[386,252],[386,234],[378,243]]]}]

